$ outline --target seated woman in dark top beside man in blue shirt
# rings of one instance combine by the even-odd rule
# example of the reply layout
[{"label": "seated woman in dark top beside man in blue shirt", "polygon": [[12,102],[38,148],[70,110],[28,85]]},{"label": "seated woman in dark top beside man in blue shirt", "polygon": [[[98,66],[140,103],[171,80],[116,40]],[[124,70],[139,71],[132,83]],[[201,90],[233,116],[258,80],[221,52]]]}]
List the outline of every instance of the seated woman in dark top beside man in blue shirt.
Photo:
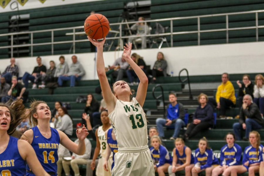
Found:
[{"label": "seated woman in dark top beside man in blue shirt", "polygon": [[200,94],[198,96],[199,106],[197,107],[193,121],[188,126],[184,138],[189,139],[195,136],[200,131],[207,130],[214,125],[213,108],[207,104],[208,97],[206,94]]}]

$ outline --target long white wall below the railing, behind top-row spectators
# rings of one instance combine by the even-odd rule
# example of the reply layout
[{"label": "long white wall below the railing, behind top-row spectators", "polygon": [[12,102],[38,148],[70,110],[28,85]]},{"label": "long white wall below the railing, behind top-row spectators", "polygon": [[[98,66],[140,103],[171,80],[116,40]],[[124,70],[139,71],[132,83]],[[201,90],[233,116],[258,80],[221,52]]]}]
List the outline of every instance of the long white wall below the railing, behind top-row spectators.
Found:
[{"label": "long white wall below the railing, behind top-row spectators", "polygon": [[[167,72],[171,71],[178,75],[182,68],[187,68],[189,75],[215,75],[223,72],[228,73],[258,73],[264,71],[264,42],[202,45],[174,48],[133,50],[144,57],[147,65],[154,65],[159,51],[163,52],[168,62]],[[94,75],[94,53],[76,54],[78,60],[83,64],[86,75],[83,79],[97,79]],[[104,53],[105,66],[112,65],[114,60],[121,57],[121,51]],[[49,61],[54,60],[59,63],[60,55],[43,56],[43,64],[49,67]],[[66,62],[71,63],[72,54],[64,55]],[[9,59],[0,60],[0,71],[3,72]],[[19,66],[19,75],[24,72],[32,72],[36,64],[36,57],[26,57],[16,59]]]}]

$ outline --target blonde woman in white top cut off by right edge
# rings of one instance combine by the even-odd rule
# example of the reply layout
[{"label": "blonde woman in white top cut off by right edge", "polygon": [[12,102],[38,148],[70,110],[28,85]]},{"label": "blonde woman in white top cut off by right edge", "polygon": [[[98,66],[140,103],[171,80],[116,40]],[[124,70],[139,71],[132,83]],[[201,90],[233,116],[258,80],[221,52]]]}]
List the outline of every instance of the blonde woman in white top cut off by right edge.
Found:
[{"label": "blonde woman in white top cut off by right edge", "polygon": [[255,85],[253,92],[253,102],[258,105],[258,108],[263,116],[264,113],[264,77],[261,74],[255,76]]}]

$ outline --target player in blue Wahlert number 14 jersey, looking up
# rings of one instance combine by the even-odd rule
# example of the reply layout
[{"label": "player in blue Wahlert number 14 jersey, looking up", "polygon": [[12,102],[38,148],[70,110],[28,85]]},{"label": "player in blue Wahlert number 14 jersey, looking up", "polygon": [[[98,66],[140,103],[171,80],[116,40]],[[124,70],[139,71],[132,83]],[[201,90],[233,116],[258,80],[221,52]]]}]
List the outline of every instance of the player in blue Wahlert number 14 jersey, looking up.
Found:
[{"label": "player in blue Wahlert number 14 jersey, looking up", "polygon": [[[29,124],[33,128],[25,131],[21,139],[28,141],[35,150],[41,165],[52,176],[57,176],[58,146],[62,144],[65,148],[83,155],[85,152],[84,139],[88,135],[85,126],[76,130],[79,144],[72,142],[68,136],[60,130],[50,127],[51,111],[44,101],[33,101],[29,109]],[[33,176],[33,167],[27,165],[27,176]]]}]

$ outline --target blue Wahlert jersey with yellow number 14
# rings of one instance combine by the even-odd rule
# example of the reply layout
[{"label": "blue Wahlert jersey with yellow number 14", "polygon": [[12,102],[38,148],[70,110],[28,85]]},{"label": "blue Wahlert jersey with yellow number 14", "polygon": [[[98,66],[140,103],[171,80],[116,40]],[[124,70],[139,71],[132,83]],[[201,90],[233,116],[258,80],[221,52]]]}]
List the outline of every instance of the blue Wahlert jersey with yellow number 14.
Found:
[{"label": "blue Wahlert jersey with yellow number 14", "polygon": [[[37,126],[31,129],[33,130],[34,135],[31,145],[35,150],[38,160],[40,161],[42,167],[46,172],[57,173],[57,150],[60,144],[60,136],[58,131],[50,127],[51,137],[47,139],[42,136]],[[27,170],[31,171],[28,165]],[[33,176],[34,174],[27,172],[26,175]]]}]

